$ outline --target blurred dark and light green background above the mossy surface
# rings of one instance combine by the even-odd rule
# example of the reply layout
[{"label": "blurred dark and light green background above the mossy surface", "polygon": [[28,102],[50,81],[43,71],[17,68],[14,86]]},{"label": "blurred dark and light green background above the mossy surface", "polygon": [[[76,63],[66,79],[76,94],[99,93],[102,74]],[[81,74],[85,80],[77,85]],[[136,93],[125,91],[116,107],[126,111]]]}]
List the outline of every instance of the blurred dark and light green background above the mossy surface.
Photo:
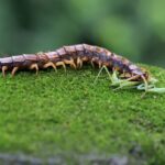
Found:
[{"label": "blurred dark and light green background above the mossy surface", "polygon": [[164,0],[0,0],[0,56],[88,43],[165,66]]}]

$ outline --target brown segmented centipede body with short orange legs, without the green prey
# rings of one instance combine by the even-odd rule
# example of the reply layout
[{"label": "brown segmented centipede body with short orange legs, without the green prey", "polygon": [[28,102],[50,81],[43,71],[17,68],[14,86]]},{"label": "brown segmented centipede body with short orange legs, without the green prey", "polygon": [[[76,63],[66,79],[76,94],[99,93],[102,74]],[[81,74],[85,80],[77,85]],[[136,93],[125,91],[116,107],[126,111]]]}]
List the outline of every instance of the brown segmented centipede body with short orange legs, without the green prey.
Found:
[{"label": "brown segmented centipede body with short orange legs, without the green prey", "polygon": [[12,70],[12,76],[14,76],[18,69],[35,69],[37,73],[40,68],[53,67],[56,69],[61,65],[65,68],[66,64],[79,68],[85,62],[90,62],[92,65],[97,64],[99,67],[107,66],[109,69],[129,74],[130,77],[136,76],[136,80],[142,80],[142,77],[147,80],[147,74],[129,59],[106,48],[88,44],[63,46],[47,53],[2,57],[0,58],[0,69],[3,76],[6,70]]}]

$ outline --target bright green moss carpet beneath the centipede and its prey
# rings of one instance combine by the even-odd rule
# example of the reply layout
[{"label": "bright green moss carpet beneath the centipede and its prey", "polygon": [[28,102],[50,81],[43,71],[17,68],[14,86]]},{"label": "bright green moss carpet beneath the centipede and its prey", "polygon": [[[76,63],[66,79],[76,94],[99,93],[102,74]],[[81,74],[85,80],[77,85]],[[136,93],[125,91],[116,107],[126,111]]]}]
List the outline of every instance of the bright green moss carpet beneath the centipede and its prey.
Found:
[{"label": "bright green moss carpet beneath the centipede and its prey", "polygon": [[[147,68],[165,86],[165,70]],[[140,145],[148,163],[165,161],[165,95],[113,91],[98,69],[20,72],[0,78],[0,152],[31,155],[109,153]]]}]

